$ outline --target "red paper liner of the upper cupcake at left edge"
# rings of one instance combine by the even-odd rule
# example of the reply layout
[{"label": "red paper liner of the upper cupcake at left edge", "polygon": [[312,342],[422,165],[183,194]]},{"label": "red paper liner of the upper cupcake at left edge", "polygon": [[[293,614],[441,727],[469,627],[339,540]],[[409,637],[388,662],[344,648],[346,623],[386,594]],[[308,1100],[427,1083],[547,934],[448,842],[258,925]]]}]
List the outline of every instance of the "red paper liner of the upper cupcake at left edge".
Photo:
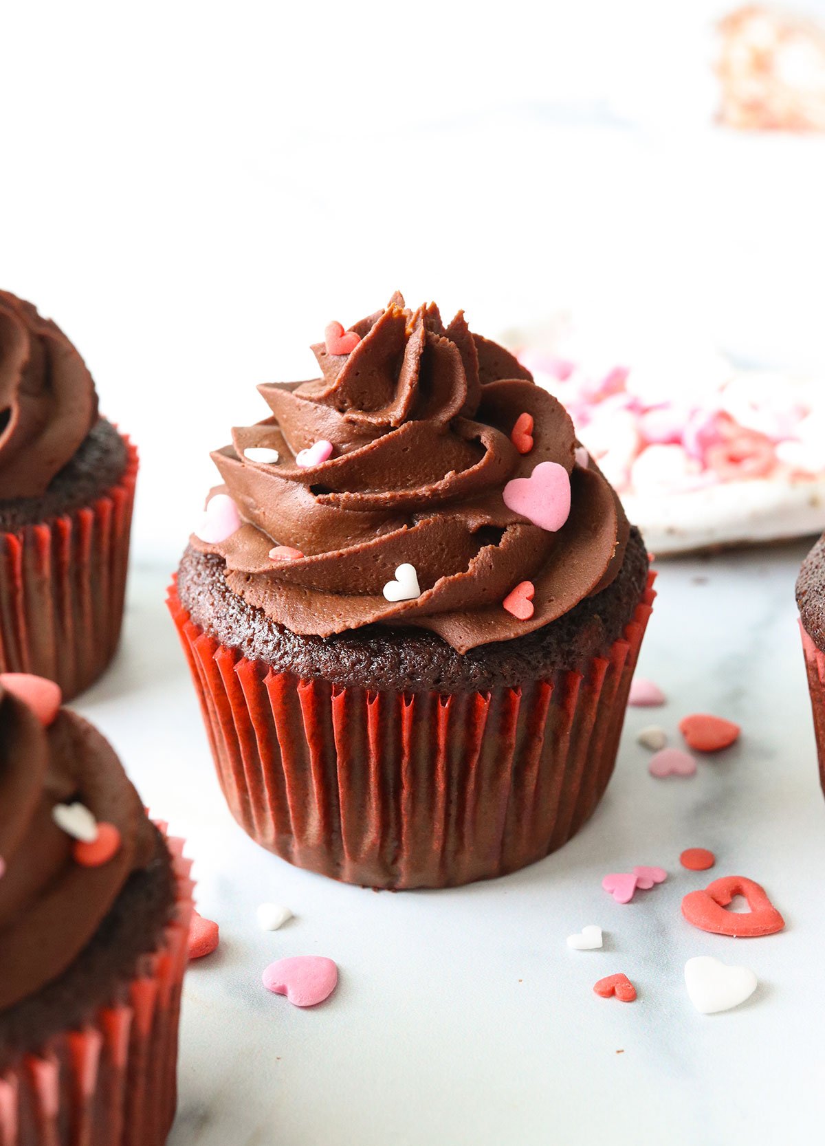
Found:
[{"label": "red paper liner of the upper cupcake at left edge", "polygon": [[115,656],[120,637],[138,450],[93,505],[0,533],[0,673],[36,673],[70,700]]}]

